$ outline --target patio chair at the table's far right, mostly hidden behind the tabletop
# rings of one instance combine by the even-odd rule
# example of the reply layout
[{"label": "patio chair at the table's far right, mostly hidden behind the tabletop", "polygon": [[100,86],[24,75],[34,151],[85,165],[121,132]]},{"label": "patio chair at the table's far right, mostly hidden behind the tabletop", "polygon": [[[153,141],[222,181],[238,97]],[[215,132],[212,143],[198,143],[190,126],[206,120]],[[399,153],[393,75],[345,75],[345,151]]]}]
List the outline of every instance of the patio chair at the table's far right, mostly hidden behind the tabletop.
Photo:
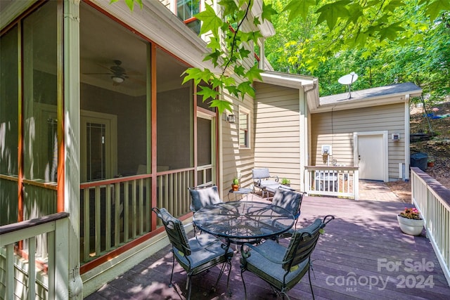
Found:
[{"label": "patio chair at the table's far right, mostly hidden behind the tabletop", "polygon": [[278,235],[278,238],[291,237],[294,233],[294,230],[297,229],[297,221],[300,217],[300,207],[302,206],[303,196],[306,195],[306,192],[298,192],[296,190],[287,190],[285,188],[279,187],[276,189],[274,197],[272,198],[272,204],[283,207],[290,211],[295,216],[294,229],[290,229],[281,235]]}]

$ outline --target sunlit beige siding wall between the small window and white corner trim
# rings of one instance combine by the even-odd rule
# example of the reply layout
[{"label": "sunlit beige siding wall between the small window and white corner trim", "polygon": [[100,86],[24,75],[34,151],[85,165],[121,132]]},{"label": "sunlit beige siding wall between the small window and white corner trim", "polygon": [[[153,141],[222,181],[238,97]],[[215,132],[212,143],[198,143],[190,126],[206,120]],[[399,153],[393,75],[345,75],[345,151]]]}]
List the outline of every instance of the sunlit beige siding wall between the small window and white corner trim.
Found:
[{"label": "sunlit beige siding wall between the small window and white corner trim", "polygon": [[300,188],[299,90],[264,83],[255,89],[254,167],[269,168],[271,175]]}]

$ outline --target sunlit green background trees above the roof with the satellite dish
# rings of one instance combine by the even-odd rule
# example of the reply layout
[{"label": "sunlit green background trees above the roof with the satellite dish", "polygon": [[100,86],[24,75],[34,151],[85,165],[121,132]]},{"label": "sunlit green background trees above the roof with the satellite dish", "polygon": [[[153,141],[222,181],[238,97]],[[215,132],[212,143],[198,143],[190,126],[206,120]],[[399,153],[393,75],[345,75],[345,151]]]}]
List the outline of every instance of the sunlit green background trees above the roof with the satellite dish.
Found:
[{"label": "sunlit green background trees above the roof with the satellite dish", "polygon": [[[289,3],[287,0],[270,2],[277,9]],[[442,9],[436,11],[439,7],[436,4]],[[351,36],[346,30],[341,29],[341,34],[330,34],[340,24],[329,30],[328,25],[319,23],[318,18],[311,20],[314,14],[309,14],[309,19],[297,16],[293,20],[288,18],[288,13],[276,15],[272,18],[274,27],[277,33],[281,28],[283,34],[276,34],[266,41],[269,61],[276,70],[318,77],[321,96],[345,93],[347,87],[338,84],[338,78],[349,72],[359,74],[358,81],[352,86],[355,90],[413,81],[423,88],[424,93],[430,93],[431,100],[449,95],[449,1],[387,1],[385,5],[388,8],[380,6],[380,11],[390,11],[395,6],[394,30],[367,37],[364,44],[345,40]],[[298,34],[299,30],[307,35]],[[359,37],[353,40],[357,41]]]}]

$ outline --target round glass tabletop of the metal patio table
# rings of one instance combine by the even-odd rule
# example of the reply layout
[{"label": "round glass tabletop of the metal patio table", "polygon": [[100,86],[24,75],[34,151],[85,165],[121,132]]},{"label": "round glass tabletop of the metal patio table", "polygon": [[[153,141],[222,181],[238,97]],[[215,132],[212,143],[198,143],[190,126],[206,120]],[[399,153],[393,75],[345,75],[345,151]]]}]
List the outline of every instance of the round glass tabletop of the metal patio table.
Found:
[{"label": "round glass tabletop of the metal patio table", "polygon": [[264,202],[220,202],[203,207],[193,215],[200,230],[224,237],[229,245],[255,243],[275,237],[293,227],[290,211]]}]

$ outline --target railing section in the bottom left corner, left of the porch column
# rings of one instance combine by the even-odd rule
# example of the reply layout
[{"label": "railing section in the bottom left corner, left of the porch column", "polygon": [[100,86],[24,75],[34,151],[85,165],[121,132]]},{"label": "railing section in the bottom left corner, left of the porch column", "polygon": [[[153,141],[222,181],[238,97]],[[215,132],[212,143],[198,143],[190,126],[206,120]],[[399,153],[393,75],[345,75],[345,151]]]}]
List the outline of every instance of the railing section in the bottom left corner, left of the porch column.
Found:
[{"label": "railing section in the bottom left corner, left of the porch column", "polygon": [[[68,216],[61,212],[0,226],[0,299],[68,299],[69,270],[63,263],[69,257]],[[46,257],[36,256],[39,235],[47,235]],[[27,253],[18,247],[23,241]]]}]

